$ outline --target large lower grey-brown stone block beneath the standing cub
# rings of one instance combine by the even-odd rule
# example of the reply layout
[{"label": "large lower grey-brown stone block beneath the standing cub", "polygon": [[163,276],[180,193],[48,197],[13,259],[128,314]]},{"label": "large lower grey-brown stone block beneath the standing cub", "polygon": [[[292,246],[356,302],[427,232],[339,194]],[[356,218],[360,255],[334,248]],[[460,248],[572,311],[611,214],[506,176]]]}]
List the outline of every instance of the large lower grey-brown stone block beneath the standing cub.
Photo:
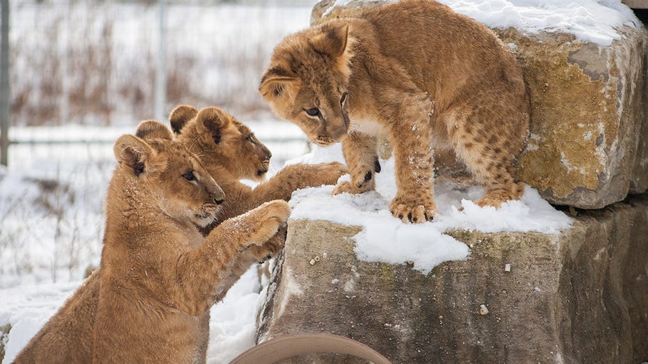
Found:
[{"label": "large lower grey-brown stone block beneath the standing cub", "polygon": [[641,363],[646,222],[644,195],[556,235],[454,231],[469,258],[423,275],[358,260],[357,226],[291,220],[258,338],[336,333],[393,363]]}]

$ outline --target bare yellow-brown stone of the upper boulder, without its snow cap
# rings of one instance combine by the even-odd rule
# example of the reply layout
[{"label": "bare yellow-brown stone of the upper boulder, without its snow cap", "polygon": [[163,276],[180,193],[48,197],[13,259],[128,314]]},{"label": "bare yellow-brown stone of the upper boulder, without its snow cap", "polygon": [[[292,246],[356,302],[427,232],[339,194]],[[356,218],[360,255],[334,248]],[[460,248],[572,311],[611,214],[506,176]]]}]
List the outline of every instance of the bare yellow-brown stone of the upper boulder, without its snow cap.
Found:
[{"label": "bare yellow-brown stone of the upper boulder, without its snow cap", "polygon": [[[323,0],[311,24],[385,1]],[[647,31],[623,26],[609,46],[561,31],[494,29],[517,54],[530,90],[522,179],[553,204],[601,208],[648,189]]]}]

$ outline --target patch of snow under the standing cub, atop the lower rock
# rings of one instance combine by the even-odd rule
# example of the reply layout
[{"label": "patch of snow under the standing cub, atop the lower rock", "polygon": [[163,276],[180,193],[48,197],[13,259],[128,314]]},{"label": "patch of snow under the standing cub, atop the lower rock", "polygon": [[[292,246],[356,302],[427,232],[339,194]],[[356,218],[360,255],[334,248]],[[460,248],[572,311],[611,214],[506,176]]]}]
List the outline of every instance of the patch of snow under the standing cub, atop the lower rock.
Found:
[{"label": "patch of snow under the standing cub, atop the lower rock", "polygon": [[[341,147],[314,150],[289,163],[343,162]],[[539,231],[558,233],[570,226],[572,219],[555,210],[526,186],[520,201],[508,201],[501,208],[481,208],[473,203],[483,195],[483,188],[460,188],[449,181],[435,185],[439,215],[434,222],[405,224],[391,216],[389,202],[396,195],[394,160],[382,160],[382,172],[376,175],[376,190],[360,195],[331,196],[334,188],[325,185],[293,193],[291,219],[328,220],[339,224],[362,226],[354,236],[355,254],[361,260],[401,264],[414,263],[414,268],[427,274],[446,260],[467,258],[469,248],[445,231],[451,229],[500,231]],[[349,176],[342,176],[341,180]],[[463,207],[463,210],[460,210]]]}]

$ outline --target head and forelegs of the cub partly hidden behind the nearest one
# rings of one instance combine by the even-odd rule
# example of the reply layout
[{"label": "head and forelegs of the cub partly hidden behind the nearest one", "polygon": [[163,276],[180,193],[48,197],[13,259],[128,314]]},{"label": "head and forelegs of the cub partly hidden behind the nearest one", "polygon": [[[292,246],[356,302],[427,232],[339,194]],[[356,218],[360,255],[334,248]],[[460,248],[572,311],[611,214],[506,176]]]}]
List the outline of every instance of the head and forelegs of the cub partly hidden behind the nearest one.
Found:
[{"label": "head and forelegs of the cub partly hidden behind the nearest one", "polygon": [[[216,222],[245,213],[266,201],[288,201],[293,191],[323,184],[334,184],[348,172],[341,163],[290,165],[272,179],[250,188],[239,179],[261,180],[268,170],[270,151],[248,126],[219,108],[204,108],[200,113],[193,106],[181,105],[172,111],[169,120],[177,133],[177,141],[200,156],[203,165],[214,177],[228,198],[218,211]],[[230,267],[229,276],[221,281],[215,301],[222,299],[250,265],[274,256],[283,247],[284,235],[277,234],[262,247],[251,247],[239,254]],[[209,320],[202,323],[206,348],[209,342]],[[202,361],[202,359],[201,359]]]}]

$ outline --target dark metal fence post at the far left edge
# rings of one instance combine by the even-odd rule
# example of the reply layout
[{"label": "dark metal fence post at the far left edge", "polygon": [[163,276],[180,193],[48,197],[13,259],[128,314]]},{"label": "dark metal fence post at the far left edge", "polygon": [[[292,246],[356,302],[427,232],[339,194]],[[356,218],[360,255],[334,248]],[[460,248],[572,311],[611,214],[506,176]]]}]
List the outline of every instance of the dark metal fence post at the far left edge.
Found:
[{"label": "dark metal fence post at the far left edge", "polygon": [[9,151],[9,0],[1,0],[0,12],[0,164],[8,165]]}]

